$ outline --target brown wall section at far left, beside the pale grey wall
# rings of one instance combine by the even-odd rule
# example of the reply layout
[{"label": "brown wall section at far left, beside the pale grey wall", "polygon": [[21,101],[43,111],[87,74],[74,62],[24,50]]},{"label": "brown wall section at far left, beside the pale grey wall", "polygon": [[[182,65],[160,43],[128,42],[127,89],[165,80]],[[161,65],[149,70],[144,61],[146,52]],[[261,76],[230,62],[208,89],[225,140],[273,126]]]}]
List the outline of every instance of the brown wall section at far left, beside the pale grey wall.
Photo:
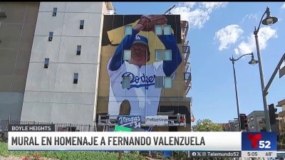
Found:
[{"label": "brown wall section at far left, beside the pale grey wall", "polygon": [[0,2],[0,119],[20,119],[39,2]]}]

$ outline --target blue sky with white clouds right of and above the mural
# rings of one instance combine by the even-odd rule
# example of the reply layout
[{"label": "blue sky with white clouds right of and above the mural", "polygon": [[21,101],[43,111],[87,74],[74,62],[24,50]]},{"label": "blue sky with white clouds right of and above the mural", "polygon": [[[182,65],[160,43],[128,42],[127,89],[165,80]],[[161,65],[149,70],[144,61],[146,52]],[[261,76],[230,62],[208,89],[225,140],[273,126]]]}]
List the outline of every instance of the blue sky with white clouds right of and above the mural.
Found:
[{"label": "blue sky with white clouds right of and above the mural", "polygon": [[[278,21],[271,26],[261,24],[259,48],[265,85],[285,53],[285,2],[113,2],[117,14],[164,14],[172,5],[172,14],[188,21],[192,68],[192,112],[195,119],[211,119],[227,123],[237,117],[232,55],[235,59],[254,53],[254,26],[266,11]],[[264,16],[264,18],[266,15]],[[250,55],[234,63],[239,97],[239,112],[249,114],[263,110],[259,65],[249,65]],[[283,64],[284,65],[284,64]],[[277,73],[269,87],[268,104],[285,99],[285,75]],[[281,111],[281,107],[278,107]]]}]

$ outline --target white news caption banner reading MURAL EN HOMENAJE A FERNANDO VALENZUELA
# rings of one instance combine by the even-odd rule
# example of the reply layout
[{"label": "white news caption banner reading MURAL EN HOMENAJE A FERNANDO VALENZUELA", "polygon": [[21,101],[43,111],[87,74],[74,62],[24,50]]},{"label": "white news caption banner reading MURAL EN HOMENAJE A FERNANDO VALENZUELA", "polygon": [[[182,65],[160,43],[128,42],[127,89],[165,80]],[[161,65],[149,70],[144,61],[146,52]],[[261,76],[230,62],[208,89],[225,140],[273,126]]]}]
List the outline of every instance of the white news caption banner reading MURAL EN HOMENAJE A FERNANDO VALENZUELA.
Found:
[{"label": "white news caption banner reading MURAL EN HOMENAJE A FERNANDO VALENZUELA", "polygon": [[257,141],[258,151],[267,153],[257,151],[257,156],[276,156],[274,132],[54,132],[52,128],[9,126],[9,150],[189,151],[192,157],[252,157]]}]

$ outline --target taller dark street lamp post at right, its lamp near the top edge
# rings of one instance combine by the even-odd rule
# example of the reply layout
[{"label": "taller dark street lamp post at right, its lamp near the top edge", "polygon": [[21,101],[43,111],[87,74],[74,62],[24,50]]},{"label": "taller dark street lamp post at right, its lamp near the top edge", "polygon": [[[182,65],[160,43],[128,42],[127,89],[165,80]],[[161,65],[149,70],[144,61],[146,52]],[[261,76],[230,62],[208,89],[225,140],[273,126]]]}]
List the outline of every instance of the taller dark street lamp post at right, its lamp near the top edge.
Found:
[{"label": "taller dark street lamp post at right, its lamp near the top edge", "polygon": [[[262,18],[264,17],[265,14],[266,14],[266,18],[264,20],[262,20]],[[265,121],[266,121],[266,131],[267,132],[271,132],[271,128],[270,128],[269,112],[268,112],[267,100],[266,100],[267,93],[264,92],[264,86],[265,86],[264,85],[264,75],[263,75],[262,61],[261,61],[261,55],[260,55],[260,50],[259,50],[259,40],[258,40],[257,33],[259,32],[259,28],[260,28],[261,23],[264,25],[271,25],[273,23],[276,23],[277,21],[278,21],[278,18],[270,16],[269,7],[267,6],[266,11],[264,11],[264,14],[259,21],[259,27],[254,28],[254,37],[255,37],[255,43],[257,44],[257,58],[259,61],[259,74],[260,74],[260,81],[261,81],[261,90],[262,90],[262,98],[263,98]]]}]

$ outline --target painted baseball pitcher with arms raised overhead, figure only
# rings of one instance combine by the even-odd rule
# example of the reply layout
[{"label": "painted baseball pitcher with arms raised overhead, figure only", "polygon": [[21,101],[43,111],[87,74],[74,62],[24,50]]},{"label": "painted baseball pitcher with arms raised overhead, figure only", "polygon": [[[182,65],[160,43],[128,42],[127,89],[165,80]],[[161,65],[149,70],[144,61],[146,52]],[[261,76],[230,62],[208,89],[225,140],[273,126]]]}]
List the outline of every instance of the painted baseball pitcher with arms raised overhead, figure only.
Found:
[{"label": "painted baseball pitcher with arms raised overhead, figure only", "polygon": [[[119,115],[120,105],[124,100],[130,102],[130,115],[140,115],[142,121],[145,115],[157,115],[160,102],[161,87],[155,87],[155,77],[175,78],[175,70],[182,62],[182,56],[175,37],[157,35],[165,46],[171,50],[170,60],[161,60],[147,64],[150,60],[148,40],[140,36],[140,31],[155,32],[155,25],[165,25],[167,18],[158,15],[141,16],[132,34],[126,35],[110,58],[107,70],[110,78],[108,113]],[[124,50],[131,50],[131,58],[124,60]],[[130,77],[130,87],[123,88],[123,77]]]}]

